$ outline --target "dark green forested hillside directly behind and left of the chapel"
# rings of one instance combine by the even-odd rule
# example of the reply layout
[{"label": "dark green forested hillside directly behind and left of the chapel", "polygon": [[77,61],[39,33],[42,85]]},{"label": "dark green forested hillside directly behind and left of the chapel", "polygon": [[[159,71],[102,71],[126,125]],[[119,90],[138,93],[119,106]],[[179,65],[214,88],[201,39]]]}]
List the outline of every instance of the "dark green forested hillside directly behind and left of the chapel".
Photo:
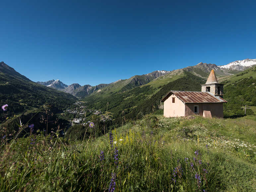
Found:
[{"label": "dark green forested hillside directly behind and left of the chapel", "polygon": [[[88,108],[111,112],[114,124],[121,124],[126,119],[141,118],[144,114],[159,109],[161,98],[170,90],[201,91],[205,80],[189,72],[181,71],[178,76],[159,79],[154,84],[146,84],[128,91],[112,94],[91,95],[83,100]],[[169,83],[166,83],[168,82]],[[163,82],[166,84],[164,85]],[[119,83],[119,82],[118,82]]]}]

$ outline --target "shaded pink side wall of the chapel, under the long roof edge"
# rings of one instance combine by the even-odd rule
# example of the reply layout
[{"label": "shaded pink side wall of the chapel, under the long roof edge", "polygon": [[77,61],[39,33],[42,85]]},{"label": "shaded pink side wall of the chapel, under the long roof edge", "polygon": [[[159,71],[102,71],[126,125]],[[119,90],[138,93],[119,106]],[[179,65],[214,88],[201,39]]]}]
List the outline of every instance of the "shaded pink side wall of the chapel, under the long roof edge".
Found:
[{"label": "shaded pink side wall of the chapel, under the long roof edge", "polygon": [[194,115],[194,105],[198,105],[198,115],[203,116],[204,110],[211,111],[212,117],[223,118],[223,103],[186,103],[185,116]]}]

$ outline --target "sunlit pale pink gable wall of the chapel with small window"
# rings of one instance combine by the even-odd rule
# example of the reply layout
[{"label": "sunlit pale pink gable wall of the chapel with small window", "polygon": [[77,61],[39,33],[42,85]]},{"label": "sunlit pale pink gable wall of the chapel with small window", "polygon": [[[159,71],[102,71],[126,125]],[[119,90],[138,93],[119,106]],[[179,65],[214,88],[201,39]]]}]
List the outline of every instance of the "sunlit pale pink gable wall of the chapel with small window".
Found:
[{"label": "sunlit pale pink gable wall of the chapel with small window", "polygon": [[[175,97],[175,103],[172,102],[172,97]],[[163,103],[164,117],[183,117],[185,116],[185,103],[183,103],[175,95],[169,96]]]}]

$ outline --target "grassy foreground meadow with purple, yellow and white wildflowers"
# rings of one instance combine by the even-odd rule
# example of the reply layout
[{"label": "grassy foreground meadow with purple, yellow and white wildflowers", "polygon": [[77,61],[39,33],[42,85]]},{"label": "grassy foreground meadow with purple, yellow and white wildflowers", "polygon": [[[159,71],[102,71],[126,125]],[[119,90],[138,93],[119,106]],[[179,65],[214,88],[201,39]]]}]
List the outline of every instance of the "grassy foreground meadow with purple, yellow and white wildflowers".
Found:
[{"label": "grassy foreground meadow with purple, yellow and white wildflowers", "polygon": [[256,189],[255,116],[146,115],[75,141],[34,129],[26,138],[1,138],[1,191]]}]

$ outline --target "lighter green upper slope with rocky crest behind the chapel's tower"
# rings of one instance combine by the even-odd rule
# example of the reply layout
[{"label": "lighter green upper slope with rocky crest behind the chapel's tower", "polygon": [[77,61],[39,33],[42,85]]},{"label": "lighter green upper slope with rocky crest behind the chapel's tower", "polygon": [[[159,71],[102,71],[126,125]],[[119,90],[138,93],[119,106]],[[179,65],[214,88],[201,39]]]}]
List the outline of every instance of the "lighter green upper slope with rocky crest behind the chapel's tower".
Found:
[{"label": "lighter green upper slope with rocky crest behind the chapel's tower", "polygon": [[[94,92],[92,95],[105,97],[114,93],[128,91],[139,86],[151,86],[153,88],[158,88],[159,86],[166,85],[172,81],[184,77],[184,71],[206,80],[212,69],[215,70],[217,77],[222,79],[240,72],[238,70],[220,68],[215,64],[207,64],[201,62],[197,65],[185,67],[183,69],[165,71],[166,74],[159,75],[159,72],[161,71],[155,71],[146,75],[136,75],[129,79],[120,80],[118,82],[109,84],[100,91]],[[159,91],[159,89],[156,90]],[[156,91],[154,93],[156,93]]]}]

